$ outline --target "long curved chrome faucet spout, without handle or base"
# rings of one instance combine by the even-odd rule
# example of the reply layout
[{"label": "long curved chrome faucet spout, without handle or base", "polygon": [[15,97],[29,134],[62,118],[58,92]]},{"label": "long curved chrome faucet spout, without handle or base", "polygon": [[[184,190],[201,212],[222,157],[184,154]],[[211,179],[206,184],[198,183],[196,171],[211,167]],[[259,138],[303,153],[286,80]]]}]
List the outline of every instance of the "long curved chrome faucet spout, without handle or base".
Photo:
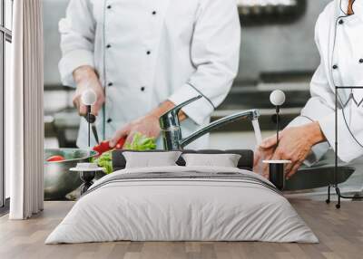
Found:
[{"label": "long curved chrome faucet spout, without handle or base", "polygon": [[191,136],[182,139],[180,142],[181,148],[191,144],[191,142],[195,141],[196,139],[201,138],[201,136],[210,133],[214,129],[219,129],[224,125],[230,124],[236,120],[248,119],[248,120],[258,120],[260,118],[260,110],[245,110],[240,111],[238,113],[232,114],[231,116],[227,116],[221,118],[220,120],[215,120],[211,122],[208,126],[203,129],[197,130],[196,132],[192,133]]}]

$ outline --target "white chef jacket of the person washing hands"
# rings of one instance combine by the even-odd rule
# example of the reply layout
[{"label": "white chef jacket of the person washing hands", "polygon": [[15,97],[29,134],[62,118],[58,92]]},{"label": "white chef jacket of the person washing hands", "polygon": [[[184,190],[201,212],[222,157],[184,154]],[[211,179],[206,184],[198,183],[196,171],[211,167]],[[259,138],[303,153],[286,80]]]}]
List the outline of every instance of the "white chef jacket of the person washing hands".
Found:
[{"label": "white chef jacket of the person washing hands", "polygon": [[[363,1],[355,1],[348,15],[348,0],[329,3],[319,15],[315,41],[320,65],[311,84],[311,98],[290,126],[319,121],[329,145],[313,148],[310,163],[335,149],[335,91],[363,87]],[[363,89],[338,89],[338,157],[349,162],[363,155]],[[336,150],[337,151],[337,150]]]}]

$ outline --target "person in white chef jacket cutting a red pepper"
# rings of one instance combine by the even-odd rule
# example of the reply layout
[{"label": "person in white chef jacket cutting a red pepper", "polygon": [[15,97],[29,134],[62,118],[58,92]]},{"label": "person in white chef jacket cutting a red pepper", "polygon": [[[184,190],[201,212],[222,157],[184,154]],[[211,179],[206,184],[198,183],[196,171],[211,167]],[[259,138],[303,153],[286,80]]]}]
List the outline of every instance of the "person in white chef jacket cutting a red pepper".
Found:
[{"label": "person in white chef jacket cutting a red pepper", "polygon": [[[135,132],[158,137],[159,117],[197,95],[180,116],[185,136],[200,129],[238,72],[235,0],[71,0],[59,30],[62,81],[77,88],[81,114],[82,92],[97,93],[98,131],[112,144]],[[87,146],[83,119],[77,145]],[[208,136],[190,148],[207,145]]]}]

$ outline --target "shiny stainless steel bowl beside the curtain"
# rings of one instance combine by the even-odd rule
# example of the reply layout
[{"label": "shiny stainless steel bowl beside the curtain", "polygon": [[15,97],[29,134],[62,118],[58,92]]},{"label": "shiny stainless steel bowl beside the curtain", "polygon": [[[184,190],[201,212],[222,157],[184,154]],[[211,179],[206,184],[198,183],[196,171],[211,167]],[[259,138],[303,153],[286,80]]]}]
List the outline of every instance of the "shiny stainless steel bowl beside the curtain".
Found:
[{"label": "shiny stainless steel bowl beside the curtain", "polygon": [[[77,187],[82,181],[76,172],[77,163],[90,162],[98,153],[87,149],[45,149],[44,151],[44,199],[63,200],[65,196]],[[52,156],[63,156],[64,161],[47,162]]]}]

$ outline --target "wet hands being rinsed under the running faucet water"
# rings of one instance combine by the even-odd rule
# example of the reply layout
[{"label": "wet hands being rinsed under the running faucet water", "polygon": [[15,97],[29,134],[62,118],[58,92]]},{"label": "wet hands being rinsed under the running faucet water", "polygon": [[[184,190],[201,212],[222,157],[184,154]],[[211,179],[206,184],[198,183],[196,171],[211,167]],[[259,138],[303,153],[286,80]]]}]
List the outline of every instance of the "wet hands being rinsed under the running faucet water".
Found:
[{"label": "wet hands being rinsed under the running faucet water", "polygon": [[[281,131],[279,146],[276,136],[265,139],[260,145],[261,154],[267,156],[266,159],[290,160],[286,168],[287,177],[293,176],[308,157],[311,148],[326,140],[322,133],[319,122],[311,122],[300,127],[291,127]],[[273,150],[273,155],[270,156]]]}]

